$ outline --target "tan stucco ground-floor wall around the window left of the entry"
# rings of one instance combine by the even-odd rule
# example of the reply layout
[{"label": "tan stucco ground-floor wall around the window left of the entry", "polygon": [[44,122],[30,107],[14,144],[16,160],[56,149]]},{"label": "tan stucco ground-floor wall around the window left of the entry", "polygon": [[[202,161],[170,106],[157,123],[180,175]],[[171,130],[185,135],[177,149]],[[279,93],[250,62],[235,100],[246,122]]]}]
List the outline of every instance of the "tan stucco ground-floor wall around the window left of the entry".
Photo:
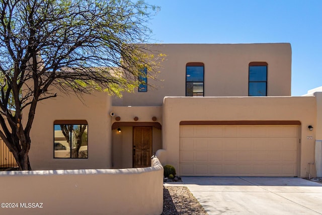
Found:
[{"label": "tan stucco ground-floor wall around the window left of the entry", "polygon": [[[106,93],[73,95],[57,93],[38,103],[31,130],[30,163],[33,170],[105,169],[111,164],[111,99]],[[88,159],[54,159],[54,121],[88,122]]]}]

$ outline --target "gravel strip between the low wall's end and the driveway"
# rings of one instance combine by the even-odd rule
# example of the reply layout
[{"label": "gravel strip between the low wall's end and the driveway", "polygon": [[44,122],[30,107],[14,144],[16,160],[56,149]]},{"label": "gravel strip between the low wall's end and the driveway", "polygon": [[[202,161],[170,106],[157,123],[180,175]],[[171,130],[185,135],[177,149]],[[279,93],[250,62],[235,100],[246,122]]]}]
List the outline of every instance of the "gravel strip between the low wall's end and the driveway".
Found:
[{"label": "gravel strip between the low wall's end and the driveway", "polygon": [[161,215],[208,214],[187,187],[164,187]]}]

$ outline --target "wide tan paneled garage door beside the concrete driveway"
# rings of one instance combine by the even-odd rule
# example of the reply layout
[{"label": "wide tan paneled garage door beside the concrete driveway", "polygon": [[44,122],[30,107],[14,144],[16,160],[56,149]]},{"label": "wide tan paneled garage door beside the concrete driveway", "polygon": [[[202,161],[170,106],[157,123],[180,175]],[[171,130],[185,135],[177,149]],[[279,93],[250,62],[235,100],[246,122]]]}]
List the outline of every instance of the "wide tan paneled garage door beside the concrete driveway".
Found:
[{"label": "wide tan paneled garage door beside the concrete driveway", "polygon": [[298,126],[180,126],[181,176],[297,176]]}]

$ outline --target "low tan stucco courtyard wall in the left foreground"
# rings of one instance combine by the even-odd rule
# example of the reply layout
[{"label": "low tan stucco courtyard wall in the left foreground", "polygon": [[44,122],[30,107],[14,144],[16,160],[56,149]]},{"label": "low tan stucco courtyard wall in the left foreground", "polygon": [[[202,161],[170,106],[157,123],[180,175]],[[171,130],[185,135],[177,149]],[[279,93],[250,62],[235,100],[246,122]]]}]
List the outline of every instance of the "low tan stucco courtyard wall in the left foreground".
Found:
[{"label": "low tan stucco courtyard wall in the left foreground", "polygon": [[163,210],[163,167],[157,158],[148,168],[0,172],[0,180],[1,203],[43,203],[0,208],[1,214],[158,215]]}]

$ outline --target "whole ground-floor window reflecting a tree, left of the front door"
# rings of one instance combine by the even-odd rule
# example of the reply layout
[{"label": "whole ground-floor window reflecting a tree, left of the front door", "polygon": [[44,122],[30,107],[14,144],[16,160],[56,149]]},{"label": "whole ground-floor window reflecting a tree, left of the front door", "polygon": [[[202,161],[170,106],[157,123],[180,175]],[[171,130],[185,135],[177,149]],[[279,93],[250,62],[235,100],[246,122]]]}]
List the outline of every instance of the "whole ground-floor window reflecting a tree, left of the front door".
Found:
[{"label": "whole ground-floor window reflecting a tree, left of the front door", "polygon": [[54,121],[54,158],[88,158],[86,120]]}]

